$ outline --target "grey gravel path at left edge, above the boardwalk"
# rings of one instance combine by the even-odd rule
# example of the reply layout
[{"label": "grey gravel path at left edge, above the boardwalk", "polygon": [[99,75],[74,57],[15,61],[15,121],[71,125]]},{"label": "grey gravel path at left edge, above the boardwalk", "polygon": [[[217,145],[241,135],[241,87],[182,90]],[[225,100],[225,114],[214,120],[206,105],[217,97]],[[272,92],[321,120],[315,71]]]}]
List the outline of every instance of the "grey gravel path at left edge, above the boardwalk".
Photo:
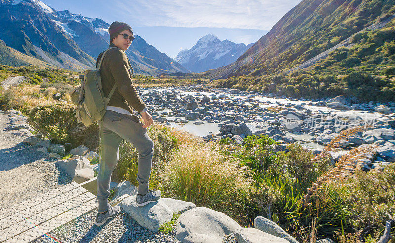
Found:
[{"label": "grey gravel path at left edge, above the boardwalk", "polygon": [[71,181],[66,172],[55,166],[55,160],[45,158],[36,146],[22,141],[25,137],[6,131],[9,115],[0,113],[0,208],[50,191]]}]

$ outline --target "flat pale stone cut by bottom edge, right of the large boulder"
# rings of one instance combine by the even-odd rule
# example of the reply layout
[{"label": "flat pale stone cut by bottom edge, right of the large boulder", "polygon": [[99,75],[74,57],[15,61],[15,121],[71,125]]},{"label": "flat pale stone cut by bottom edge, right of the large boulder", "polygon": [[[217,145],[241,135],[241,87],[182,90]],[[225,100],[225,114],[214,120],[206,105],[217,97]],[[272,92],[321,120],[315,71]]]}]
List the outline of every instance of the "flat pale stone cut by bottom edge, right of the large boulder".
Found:
[{"label": "flat pale stone cut by bottom edge, right of the large boulder", "polygon": [[289,241],[260,231],[255,228],[240,228],[235,231],[235,238],[238,243],[289,243]]}]

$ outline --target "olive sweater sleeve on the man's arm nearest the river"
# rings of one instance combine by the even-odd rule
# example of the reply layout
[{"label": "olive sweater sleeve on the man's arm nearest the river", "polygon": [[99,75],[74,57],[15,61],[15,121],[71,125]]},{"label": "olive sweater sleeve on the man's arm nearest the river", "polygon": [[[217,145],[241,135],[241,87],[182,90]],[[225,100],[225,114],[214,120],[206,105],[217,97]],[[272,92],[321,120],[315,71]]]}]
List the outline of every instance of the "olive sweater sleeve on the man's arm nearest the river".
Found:
[{"label": "olive sweater sleeve on the man's arm nearest the river", "polygon": [[140,113],[146,108],[146,105],[139,97],[130,78],[130,69],[126,54],[121,50],[114,51],[111,53],[109,61],[110,70],[117,83],[119,93],[125,98],[127,104]]}]

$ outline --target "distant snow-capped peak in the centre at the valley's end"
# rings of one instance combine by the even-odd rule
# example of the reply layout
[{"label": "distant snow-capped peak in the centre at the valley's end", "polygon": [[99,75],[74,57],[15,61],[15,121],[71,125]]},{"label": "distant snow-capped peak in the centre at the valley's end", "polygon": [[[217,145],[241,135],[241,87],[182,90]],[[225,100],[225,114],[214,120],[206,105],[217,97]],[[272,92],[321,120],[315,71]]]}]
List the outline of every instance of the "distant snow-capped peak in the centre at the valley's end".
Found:
[{"label": "distant snow-capped peak in the centre at the valley's end", "polygon": [[252,45],[221,41],[209,34],[199,39],[191,49],[180,51],[175,60],[192,72],[203,72],[235,62]]}]

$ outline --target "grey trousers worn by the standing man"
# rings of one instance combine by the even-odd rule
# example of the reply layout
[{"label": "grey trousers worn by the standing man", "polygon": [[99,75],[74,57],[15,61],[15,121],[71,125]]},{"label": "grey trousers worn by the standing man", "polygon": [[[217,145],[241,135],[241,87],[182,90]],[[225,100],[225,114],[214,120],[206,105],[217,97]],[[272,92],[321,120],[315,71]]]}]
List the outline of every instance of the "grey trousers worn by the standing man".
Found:
[{"label": "grey trousers worn by the standing man", "polygon": [[109,209],[111,174],[119,159],[119,145],[123,139],[130,142],[139,154],[137,181],[139,194],[148,190],[154,143],[136,115],[125,115],[107,110],[98,122],[100,128],[100,169],[97,174],[97,201],[99,213]]}]

